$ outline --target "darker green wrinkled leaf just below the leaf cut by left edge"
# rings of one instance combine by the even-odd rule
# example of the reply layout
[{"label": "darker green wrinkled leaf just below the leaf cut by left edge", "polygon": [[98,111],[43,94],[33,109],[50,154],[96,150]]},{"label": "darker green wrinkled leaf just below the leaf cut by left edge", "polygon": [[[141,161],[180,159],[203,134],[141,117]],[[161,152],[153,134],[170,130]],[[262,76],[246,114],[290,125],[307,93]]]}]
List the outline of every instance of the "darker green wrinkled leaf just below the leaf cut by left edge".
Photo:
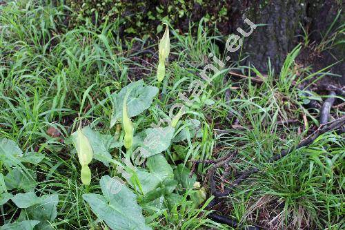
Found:
[{"label": "darker green wrinkled leaf just below the leaf cut by left edge", "polygon": [[8,172],[4,177],[6,188],[12,189],[23,189],[23,191],[33,191],[37,182],[35,181],[36,174],[34,172],[24,173],[21,169],[14,168]]}]

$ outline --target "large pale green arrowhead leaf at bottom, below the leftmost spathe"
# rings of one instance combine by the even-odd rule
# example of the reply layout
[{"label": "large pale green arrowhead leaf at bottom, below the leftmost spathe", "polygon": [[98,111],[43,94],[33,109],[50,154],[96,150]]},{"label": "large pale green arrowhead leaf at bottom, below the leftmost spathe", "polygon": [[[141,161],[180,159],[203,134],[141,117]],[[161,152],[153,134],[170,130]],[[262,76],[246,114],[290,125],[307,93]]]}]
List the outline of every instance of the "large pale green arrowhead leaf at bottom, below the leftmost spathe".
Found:
[{"label": "large pale green arrowhead leaf at bottom, below the leftmost spathe", "polygon": [[93,213],[106,222],[111,229],[151,229],[145,224],[136,195],[124,185],[118,193],[115,193],[111,190],[113,180],[108,175],[101,178],[103,195],[83,194],[83,199],[90,204]]}]

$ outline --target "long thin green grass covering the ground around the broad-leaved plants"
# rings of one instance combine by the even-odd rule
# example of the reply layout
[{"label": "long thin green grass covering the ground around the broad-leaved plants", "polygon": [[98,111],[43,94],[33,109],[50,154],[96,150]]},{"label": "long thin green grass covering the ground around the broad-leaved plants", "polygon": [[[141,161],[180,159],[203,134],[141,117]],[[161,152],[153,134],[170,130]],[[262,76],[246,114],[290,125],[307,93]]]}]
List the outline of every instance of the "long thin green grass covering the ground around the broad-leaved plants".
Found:
[{"label": "long thin green grass covering the ground around the broad-leaved plants", "polygon": [[[14,140],[25,153],[45,154],[30,172],[37,175],[38,195],[59,194],[53,229],[106,229],[81,196],[99,193],[99,178],[114,175],[116,166],[92,163],[92,184],[81,186],[79,162],[68,137],[80,122],[115,135],[115,128],[110,128],[111,93],[130,79],[142,78],[146,84],[154,84],[157,59],[141,56],[146,41],[122,41],[117,23],[67,28],[63,19],[68,11],[63,5],[11,1],[0,6],[0,12],[0,137]],[[196,37],[172,31],[172,54],[161,99],[155,99],[156,106],[146,116],[135,119],[137,130],[152,122],[157,124],[168,114],[178,93],[188,90],[210,61],[206,54],[222,57],[215,44],[222,37],[210,35],[202,21],[196,26]],[[329,43],[324,41],[320,46]],[[157,46],[150,48],[157,50]],[[250,78],[226,81],[226,71],[213,76],[213,84],[187,111],[187,117],[201,121],[202,137],[179,144],[185,153],[182,162],[190,166],[188,160],[215,159],[236,149],[239,153],[229,164],[230,175],[250,166],[259,167],[263,173],[253,176],[228,198],[224,206],[227,215],[275,229],[343,229],[344,136],[322,135],[308,148],[266,163],[273,154],[306,137],[311,126],[318,125],[317,114],[304,108],[297,84],[300,79],[323,76],[325,70],[310,73],[308,68],[297,66],[299,51],[297,46],[290,52],[279,74],[269,69],[264,76],[254,67],[238,66],[237,61],[228,63],[228,70],[248,69],[250,75],[263,79],[262,84]],[[228,90],[230,100],[226,99]],[[344,111],[335,108],[333,115],[342,116]],[[243,128],[230,128],[235,117]],[[304,124],[277,123],[303,118]],[[61,137],[48,135],[49,127],[57,128]],[[225,132],[219,134],[219,130]],[[165,153],[171,165],[177,165],[172,155],[181,150],[176,149],[172,146]],[[112,152],[112,157],[120,160],[121,150]],[[207,169],[198,166],[199,182],[205,180]],[[0,172],[6,174],[8,169],[0,164]],[[217,180],[222,180],[223,172],[217,171]],[[173,209],[153,215],[144,210],[144,215],[154,229],[228,229],[208,220],[204,207],[191,207],[186,197]],[[12,222],[18,218],[19,209],[8,202],[1,206],[0,213],[0,222]]]}]

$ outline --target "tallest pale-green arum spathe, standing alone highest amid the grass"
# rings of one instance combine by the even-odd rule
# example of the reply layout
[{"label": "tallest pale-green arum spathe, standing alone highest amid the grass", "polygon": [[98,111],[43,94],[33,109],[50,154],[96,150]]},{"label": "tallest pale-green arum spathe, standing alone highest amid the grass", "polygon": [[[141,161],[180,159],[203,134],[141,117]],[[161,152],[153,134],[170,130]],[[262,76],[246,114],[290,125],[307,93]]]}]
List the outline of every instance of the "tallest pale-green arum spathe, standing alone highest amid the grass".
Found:
[{"label": "tallest pale-green arum spathe, standing alone highest amid the grass", "polygon": [[166,31],[164,32],[164,35],[161,38],[161,41],[159,41],[159,51],[158,51],[159,63],[157,67],[158,82],[163,81],[164,75],[166,75],[165,62],[169,56],[169,52],[170,52],[169,27],[168,27],[168,24],[166,24]]}]

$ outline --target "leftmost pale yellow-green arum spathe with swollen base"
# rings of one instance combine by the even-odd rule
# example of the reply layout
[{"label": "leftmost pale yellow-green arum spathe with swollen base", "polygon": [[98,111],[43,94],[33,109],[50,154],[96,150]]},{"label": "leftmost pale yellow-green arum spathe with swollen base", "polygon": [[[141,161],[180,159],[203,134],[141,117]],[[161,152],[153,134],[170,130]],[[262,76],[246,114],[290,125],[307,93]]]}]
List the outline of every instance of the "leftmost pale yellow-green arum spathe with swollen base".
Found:
[{"label": "leftmost pale yellow-green arum spathe with swollen base", "polygon": [[77,130],[77,136],[75,138],[75,148],[77,149],[78,159],[81,164],[81,182],[89,185],[91,182],[91,171],[88,164],[92,161],[93,151],[88,137],[83,134],[80,127]]}]

